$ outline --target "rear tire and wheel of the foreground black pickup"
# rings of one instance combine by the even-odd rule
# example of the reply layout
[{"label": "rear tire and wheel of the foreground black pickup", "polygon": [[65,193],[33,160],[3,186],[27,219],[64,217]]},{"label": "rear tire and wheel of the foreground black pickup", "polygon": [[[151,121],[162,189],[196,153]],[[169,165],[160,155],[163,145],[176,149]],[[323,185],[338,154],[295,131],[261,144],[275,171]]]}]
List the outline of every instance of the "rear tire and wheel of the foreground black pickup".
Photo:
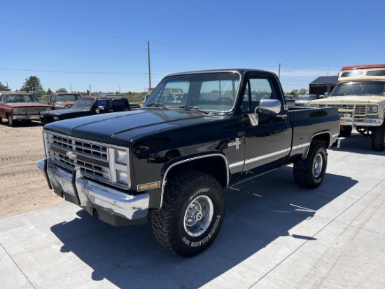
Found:
[{"label": "rear tire and wheel of the foreground black pickup", "polygon": [[327,166],[325,145],[323,142],[311,142],[306,159],[294,163],[294,180],[300,187],[315,189],[323,181]]}]

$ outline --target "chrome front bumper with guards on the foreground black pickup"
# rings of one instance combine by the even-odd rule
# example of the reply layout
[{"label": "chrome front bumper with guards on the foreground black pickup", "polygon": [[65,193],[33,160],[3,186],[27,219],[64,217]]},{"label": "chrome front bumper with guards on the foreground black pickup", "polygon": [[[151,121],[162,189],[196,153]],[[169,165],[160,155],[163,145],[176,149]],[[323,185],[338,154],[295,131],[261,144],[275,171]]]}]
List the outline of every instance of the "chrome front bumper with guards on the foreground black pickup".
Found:
[{"label": "chrome front bumper with guards on the foreground black pickup", "polygon": [[73,174],[67,173],[61,168],[52,166],[50,158],[39,161],[37,166],[47,179],[50,189],[59,195],[69,196],[67,201],[76,203],[91,215],[95,208],[99,216],[116,215],[132,221],[144,220],[147,217],[150,200],[148,194],[132,196],[86,180],[81,175],[80,168],[76,168]]}]

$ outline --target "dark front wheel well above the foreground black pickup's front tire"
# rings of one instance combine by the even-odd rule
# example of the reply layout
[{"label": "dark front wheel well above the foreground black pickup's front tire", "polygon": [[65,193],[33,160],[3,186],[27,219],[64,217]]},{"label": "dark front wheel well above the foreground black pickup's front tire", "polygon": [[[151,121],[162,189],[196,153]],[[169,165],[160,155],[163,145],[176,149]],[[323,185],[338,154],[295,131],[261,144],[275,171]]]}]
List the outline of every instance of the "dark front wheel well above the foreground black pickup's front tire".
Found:
[{"label": "dark front wheel well above the foreground black pickup's front tire", "polygon": [[208,156],[178,163],[169,170],[167,179],[186,170],[195,170],[211,175],[221,183],[222,187],[226,187],[228,184],[228,167],[221,156]]}]

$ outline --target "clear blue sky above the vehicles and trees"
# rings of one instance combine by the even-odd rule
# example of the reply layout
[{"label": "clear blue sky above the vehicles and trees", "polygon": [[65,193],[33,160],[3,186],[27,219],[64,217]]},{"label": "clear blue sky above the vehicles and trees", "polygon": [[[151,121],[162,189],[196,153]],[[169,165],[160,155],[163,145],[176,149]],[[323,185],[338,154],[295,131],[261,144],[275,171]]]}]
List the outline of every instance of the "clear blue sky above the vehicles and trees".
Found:
[{"label": "clear blue sky above the vehicles and trees", "polygon": [[384,11],[384,0],[6,1],[0,81],[143,92],[149,41],[151,86],[174,72],[255,68],[280,73],[290,92],[346,65],[385,63]]}]

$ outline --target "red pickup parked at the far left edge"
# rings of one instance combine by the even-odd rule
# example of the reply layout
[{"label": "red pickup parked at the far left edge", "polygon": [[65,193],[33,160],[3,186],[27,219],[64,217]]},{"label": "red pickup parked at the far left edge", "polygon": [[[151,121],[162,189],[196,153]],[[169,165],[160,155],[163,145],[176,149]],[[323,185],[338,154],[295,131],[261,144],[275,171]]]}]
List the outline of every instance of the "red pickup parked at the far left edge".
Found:
[{"label": "red pickup parked at the far left edge", "polygon": [[49,111],[51,107],[38,102],[32,93],[0,94],[0,118],[7,119],[9,126],[20,121],[39,121],[40,113]]}]

